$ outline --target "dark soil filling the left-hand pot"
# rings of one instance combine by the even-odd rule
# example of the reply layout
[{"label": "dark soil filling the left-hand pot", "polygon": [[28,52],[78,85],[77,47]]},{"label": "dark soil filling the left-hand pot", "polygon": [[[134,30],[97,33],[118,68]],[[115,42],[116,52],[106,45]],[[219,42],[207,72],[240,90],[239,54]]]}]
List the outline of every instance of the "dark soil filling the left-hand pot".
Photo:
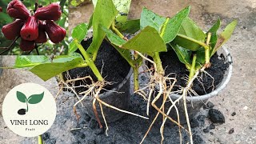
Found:
[{"label": "dark soil filling the left-hand pot", "polygon": [[[84,48],[87,49],[91,42],[92,38],[89,38],[86,41],[82,41],[81,44]],[[106,42],[105,39],[103,40],[102,45],[98,50],[98,56],[96,58],[95,65],[97,66],[98,70],[102,70],[102,77],[105,78],[107,82],[114,82],[114,85],[105,86],[104,88],[106,90],[112,90],[114,87],[118,86],[118,84],[121,83],[124,78],[126,78],[126,75],[130,71],[129,63],[126,62],[126,60],[122,58],[118,51],[115,50],[109,42]],[[71,78],[82,78],[90,75],[94,79],[94,82],[97,82],[97,78],[94,76],[92,70],[90,70],[90,67],[75,68],[73,70],[69,70],[69,74]],[[84,83],[85,82],[78,81],[75,83],[75,86],[79,86]],[[90,84],[90,82],[86,83]],[[84,90],[86,90],[86,88],[76,89],[77,92]]]}]

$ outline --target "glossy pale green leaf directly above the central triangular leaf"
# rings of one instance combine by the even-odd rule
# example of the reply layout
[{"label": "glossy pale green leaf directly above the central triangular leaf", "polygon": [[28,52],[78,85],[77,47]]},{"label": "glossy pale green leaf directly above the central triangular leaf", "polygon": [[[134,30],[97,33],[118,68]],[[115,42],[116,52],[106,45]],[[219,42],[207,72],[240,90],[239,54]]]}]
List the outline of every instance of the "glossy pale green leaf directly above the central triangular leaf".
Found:
[{"label": "glossy pale green leaf directly above the central triangular leaf", "polygon": [[141,29],[151,26],[158,30],[159,33],[164,22],[166,22],[166,18],[155,14],[153,11],[146,9],[146,7],[143,8],[140,20]]}]

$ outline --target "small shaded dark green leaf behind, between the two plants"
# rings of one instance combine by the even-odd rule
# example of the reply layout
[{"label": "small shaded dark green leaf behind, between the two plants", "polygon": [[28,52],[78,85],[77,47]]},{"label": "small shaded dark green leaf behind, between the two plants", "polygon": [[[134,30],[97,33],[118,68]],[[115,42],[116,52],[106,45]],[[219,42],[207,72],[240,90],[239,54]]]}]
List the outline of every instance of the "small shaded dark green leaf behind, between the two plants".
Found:
[{"label": "small shaded dark green leaf behind, between the two plants", "polygon": [[122,33],[134,34],[140,30],[140,19],[126,21],[122,26],[117,28]]}]

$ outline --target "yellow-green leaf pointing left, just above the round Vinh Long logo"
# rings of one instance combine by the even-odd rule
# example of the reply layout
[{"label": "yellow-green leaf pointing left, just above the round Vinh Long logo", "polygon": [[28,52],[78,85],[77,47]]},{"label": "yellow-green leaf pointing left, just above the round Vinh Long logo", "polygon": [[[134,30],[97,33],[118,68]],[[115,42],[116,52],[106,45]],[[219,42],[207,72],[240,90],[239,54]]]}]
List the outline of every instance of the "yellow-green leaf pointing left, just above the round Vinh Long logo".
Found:
[{"label": "yellow-green leaf pointing left, just above the round Vinh Long logo", "polygon": [[42,80],[47,81],[66,70],[74,69],[82,64],[84,64],[82,56],[78,53],[74,53],[72,55],[58,56],[54,58],[53,62],[46,62],[34,66],[30,71],[38,75]]}]

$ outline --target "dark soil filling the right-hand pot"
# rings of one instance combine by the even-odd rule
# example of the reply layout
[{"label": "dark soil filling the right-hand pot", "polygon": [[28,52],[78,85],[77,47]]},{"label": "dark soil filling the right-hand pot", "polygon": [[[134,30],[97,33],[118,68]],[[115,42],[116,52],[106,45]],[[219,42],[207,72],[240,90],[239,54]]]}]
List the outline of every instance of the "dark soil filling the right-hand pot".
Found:
[{"label": "dark soil filling the right-hand pot", "polygon": [[[186,86],[186,81],[182,80],[186,75],[189,75],[189,71],[186,69],[186,66],[179,62],[177,55],[174,50],[169,50],[166,53],[161,53],[160,58],[162,60],[163,68],[166,68],[166,75],[170,73],[175,73],[177,82],[176,86]],[[224,77],[225,71],[229,67],[229,64],[225,62],[224,56],[221,54],[214,54],[210,58],[211,66],[206,69],[207,73],[214,77],[214,86],[218,86]],[[201,76],[201,74],[199,74]],[[193,90],[199,95],[209,94],[213,90],[212,86],[213,79],[209,75],[202,74],[202,83],[198,82],[198,79],[195,79],[193,82]],[[206,91],[204,91],[203,87]],[[174,90],[177,90],[178,87],[175,87]]]}]

